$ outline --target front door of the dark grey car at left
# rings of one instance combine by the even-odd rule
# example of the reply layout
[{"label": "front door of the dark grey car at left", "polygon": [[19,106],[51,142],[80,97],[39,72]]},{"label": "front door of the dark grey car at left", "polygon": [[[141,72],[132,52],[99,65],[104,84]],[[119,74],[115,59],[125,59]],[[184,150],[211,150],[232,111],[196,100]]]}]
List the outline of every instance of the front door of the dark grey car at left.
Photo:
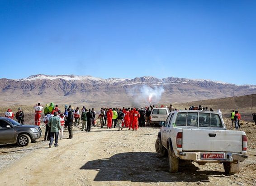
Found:
[{"label": "front door of the dark grey car at left", "polygon": [[[7,128],[7,125],[11,128]],[[13,143],[14,141],[14,128],[9,122],[0,120],[0,143]]]}]

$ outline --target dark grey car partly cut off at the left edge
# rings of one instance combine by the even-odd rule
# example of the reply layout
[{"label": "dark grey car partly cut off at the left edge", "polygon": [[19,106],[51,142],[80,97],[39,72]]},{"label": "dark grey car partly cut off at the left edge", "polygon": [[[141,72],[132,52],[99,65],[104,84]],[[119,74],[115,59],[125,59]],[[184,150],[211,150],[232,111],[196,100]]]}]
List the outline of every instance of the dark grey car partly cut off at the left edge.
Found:
[{"label": "dark grey car partly cut off at the left edge", "polygon": [[42,130],[34,125],[22,125],[11,118],[0,117],[0,144],[18,143],[27,146],[42,136]]}]

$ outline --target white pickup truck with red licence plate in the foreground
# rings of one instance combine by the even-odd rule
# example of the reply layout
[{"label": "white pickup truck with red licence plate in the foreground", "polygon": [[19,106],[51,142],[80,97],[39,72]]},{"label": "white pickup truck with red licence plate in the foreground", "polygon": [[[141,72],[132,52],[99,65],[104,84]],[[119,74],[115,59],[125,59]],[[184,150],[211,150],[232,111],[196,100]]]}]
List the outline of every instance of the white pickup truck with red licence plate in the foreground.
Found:
[{"label": "white pickup truck with red licence plate in the foreground", "polygon": [[156,152],[168,153],[170,172],[178,172],[181,159],[200,165],[223,163],[225,173],[234,174],[247,159],[246,151],[245,132],[227,130],[218,112],[171,112],[156,139]]}]

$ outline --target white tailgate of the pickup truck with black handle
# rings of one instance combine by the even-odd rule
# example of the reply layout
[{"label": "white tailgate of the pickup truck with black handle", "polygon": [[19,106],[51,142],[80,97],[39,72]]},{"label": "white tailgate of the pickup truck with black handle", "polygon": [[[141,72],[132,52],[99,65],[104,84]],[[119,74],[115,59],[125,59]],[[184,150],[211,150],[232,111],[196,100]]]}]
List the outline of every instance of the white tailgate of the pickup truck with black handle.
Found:
[{"label": "white tailgate of the pickup truck with black handle", "polygon": [[242,131],[183,129],[183,151],[242,152]]}]

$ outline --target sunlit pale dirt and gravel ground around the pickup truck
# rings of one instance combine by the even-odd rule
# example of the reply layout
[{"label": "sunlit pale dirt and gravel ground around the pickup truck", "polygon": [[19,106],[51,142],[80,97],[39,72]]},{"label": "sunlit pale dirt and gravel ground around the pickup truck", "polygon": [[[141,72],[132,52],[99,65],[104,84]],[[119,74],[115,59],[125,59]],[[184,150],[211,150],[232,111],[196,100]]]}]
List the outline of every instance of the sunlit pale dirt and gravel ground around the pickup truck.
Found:
[{"label": "sunlit pale dirt and gravel ground around the pickup truck", "polygon": [[86,133],[74,127],[73,139],[66,139],[65,130],[58,147],[48,148],[43,136],[28,147],[0,145],[0,186],[256,185],[254,123],[241,127],[247,132],[249,158],[241,163],[241,172],[231,176],[224,175],[218,163],[181,162],[180,172],[168,172],[167,158],[155,151],[159,130],[92,127]]}]

